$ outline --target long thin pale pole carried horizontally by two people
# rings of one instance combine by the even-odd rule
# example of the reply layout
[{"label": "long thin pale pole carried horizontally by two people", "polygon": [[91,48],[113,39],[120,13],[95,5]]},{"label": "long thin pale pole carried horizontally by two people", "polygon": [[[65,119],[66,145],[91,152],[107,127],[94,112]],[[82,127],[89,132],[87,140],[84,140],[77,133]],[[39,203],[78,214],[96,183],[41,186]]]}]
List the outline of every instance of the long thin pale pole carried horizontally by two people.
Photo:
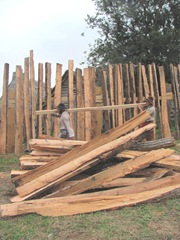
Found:
[{"label": "long thin pale pole carried horizontally by two people", "polygon": [[[84,108],[70,108],[67,109],[67,112],[85,112],[85,111],[97,111],[97,110],[111,110],[111,109],[119,109],[119,108],[135,108],[138,105],[145,105],[145,103],[133,103],[133,104],[121,104],[121,105],[113,105],[113,106],[100,106],[100,107],[84,107]],[[57,112],[57,109],[52,110],[37,110],[35,111],[36,115],[40,114],[51,114]]]}]

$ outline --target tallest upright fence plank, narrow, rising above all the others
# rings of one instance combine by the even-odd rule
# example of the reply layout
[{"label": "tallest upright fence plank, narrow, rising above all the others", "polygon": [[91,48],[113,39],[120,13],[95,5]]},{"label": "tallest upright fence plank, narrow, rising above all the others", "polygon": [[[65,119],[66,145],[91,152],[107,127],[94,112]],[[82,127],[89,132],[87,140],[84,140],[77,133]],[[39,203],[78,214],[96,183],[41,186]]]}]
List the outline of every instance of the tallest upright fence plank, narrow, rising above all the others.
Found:
[{"label": "tallest upright fence plank, narrow, rising above all the others", "polygon": [[35,72],[34,72],[34,53],[30,50],[30,81],[31,81],[31,115],[32,115],[32,138],[36,137],[36,97],[35,97]]}]

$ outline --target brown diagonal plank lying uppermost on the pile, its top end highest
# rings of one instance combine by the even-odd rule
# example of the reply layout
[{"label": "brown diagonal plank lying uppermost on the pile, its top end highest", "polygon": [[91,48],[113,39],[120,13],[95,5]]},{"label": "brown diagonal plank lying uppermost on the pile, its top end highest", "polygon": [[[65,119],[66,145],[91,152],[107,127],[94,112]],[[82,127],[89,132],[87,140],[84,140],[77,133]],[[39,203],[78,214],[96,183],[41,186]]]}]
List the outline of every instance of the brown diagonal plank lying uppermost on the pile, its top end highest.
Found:
[{"label": "brown diagonal plank lying uppermost on the pile, its top end highest", "polygon": [[71,160],[74,160],[75,158],[78,158],[80,156],[85,155],[86,153],[89,153],[90,151],[94,151],[97,147],[100,147],[106,143],[109,143],[116,138],[126,134],[127,132],[130,132],[132,129],[134,129],[136,126],[138,126],[141,122],[144,122],[146,119],[149,118],[149,114],[146,111],[141,112],[138,116],[130,119],[129,121],[125,122],[122,126],[119,126],[115,129],[111,129],[108,132],[101,134],[100,136],[97,136],[95,139],[92,139],[91,141],[87,142],[86,144],[75,148],[69,153],[66,153],[65,155],[60,157],[61,163],[55,163],[51,162],[47,165],[47,168],[41,169],[41,171],[34,170],[31,172],[31,174],[26,174],[23,177],[16,178],[14,180],[14,183],[16,185],[22,185],[25,183],[30,182],[32,179],[36,179],[38,176],[41,176],[42,174],[45,174],[46,172],[49,172],[51,170],[57,169],[58,167],[70,162]]}]

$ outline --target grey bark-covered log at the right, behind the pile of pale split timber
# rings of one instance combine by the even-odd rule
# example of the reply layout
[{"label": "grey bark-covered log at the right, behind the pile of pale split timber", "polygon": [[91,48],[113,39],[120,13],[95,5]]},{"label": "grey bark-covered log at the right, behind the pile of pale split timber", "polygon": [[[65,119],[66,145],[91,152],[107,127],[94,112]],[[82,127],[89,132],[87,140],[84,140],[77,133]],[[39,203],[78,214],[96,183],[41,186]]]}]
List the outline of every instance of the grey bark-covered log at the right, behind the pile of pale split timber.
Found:
[{"label": "grey bark-covered log at the right, behind the pile of pale split timber", "polygon": [[175,146],[176,142],[173,137],[171,138],[162,138],[154,141],[147,142],[136,142],[130,150],[139,150],[139,151],[151,151],[159,148],[169,148]]}]

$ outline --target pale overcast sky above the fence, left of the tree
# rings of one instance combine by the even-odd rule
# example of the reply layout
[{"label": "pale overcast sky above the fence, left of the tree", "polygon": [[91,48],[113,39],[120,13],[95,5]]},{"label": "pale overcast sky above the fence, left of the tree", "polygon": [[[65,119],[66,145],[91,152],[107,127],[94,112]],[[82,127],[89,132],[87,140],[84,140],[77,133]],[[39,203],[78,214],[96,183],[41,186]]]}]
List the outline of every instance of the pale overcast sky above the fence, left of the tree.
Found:
[{"label": "pale overcast sky above the fence, left of the tree", "polygon": [[[56,63],[67,70],[68,60],[74,68],[85,61],[84,52],[96,39],[85,18],[93,15],[92,0],[0,0],[0,96],[3,88],[4,64],[9,63],[9,83],[16,65],[24,65],[24,58],[34,52],[35,78],[38,63],[52,66],[52,87]],[[81,33],[85,33],[83,37]]]}]

